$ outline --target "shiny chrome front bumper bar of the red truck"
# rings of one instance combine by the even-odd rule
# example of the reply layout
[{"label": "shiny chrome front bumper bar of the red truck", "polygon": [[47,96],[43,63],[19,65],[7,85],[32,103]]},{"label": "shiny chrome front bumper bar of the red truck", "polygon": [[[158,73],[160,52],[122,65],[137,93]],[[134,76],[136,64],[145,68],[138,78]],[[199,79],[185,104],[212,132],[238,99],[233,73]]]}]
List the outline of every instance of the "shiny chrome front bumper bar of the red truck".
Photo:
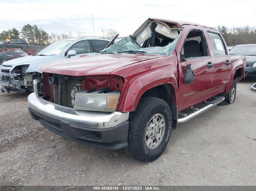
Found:
[{"label": "shiny chrome front bumper bar of the red truck", "polygon": [[103,113],[78,111],[73,108],[46,101],[42,97],[36,96],[35,93],[28,96],[28,108],[30,112],[31,110],[34,110],[43,113],[44,116],[49,116],[50,118],[68,121],[72,126],[92,129],[115,127],[128,121],[129,118],[129,112],[121,113],[116,111],[114,113]]}]

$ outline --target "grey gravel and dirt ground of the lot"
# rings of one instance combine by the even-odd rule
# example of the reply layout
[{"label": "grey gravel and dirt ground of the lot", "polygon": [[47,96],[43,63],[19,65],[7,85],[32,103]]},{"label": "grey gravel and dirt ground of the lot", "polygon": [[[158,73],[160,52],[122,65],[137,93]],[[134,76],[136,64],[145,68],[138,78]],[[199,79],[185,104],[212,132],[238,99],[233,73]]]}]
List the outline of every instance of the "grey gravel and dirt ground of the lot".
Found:
[{"label": "grey gravel and dirt ground of the lot", "polygon": [[238,83],[234,103],[179,125],[148,164],[55,135],[30,117],[28,94],[0,93],[0,185],[256,185],[252,83]]}]

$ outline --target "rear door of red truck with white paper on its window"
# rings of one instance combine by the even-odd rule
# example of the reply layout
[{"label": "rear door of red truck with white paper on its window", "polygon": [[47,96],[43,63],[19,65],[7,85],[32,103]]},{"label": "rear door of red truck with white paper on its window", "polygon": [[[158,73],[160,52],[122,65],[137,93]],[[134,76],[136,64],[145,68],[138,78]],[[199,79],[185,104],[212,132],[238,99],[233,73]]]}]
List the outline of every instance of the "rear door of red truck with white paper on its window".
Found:
[{"label": "rear door of red truck with white paper on its window", "polygon": [[231,59],[226,44],[216,31],[207,31],[207,38],[211,41],[211,57],[214,64],[213,87],[215,94],[225,91],[231,75]]}]

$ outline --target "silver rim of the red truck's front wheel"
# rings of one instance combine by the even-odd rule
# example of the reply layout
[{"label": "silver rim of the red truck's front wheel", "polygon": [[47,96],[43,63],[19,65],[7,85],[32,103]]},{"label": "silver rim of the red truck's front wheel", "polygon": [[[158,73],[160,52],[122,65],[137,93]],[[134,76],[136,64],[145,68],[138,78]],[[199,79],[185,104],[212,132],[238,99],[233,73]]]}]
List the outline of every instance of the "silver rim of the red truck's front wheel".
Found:
[{"label": "silver rim of the red truck's front wheel", "polygon": [[148,122],[145,143],[149,149],[157,148],[165,135],[165,118],[161,113],[155,114]]}]

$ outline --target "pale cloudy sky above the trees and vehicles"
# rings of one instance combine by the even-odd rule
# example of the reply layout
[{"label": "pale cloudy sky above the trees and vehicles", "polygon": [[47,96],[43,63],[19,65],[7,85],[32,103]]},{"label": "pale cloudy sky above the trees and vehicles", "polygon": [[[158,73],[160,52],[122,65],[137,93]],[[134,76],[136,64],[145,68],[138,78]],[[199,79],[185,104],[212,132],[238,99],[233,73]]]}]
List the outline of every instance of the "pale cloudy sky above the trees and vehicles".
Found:
[{"label": "pale cloudy sky above the trees and vehicles", "polygon": [[[0,32],[25,24],[36,24],[48,34],[72,32],[102,36],[112,28],[119,37],[135,32],[147,18],[190,21],[208,27],[256,27],[256,1],[88,1],[88,0],[0,0]],[[94,28],[92,23],[94,20]]]}]

